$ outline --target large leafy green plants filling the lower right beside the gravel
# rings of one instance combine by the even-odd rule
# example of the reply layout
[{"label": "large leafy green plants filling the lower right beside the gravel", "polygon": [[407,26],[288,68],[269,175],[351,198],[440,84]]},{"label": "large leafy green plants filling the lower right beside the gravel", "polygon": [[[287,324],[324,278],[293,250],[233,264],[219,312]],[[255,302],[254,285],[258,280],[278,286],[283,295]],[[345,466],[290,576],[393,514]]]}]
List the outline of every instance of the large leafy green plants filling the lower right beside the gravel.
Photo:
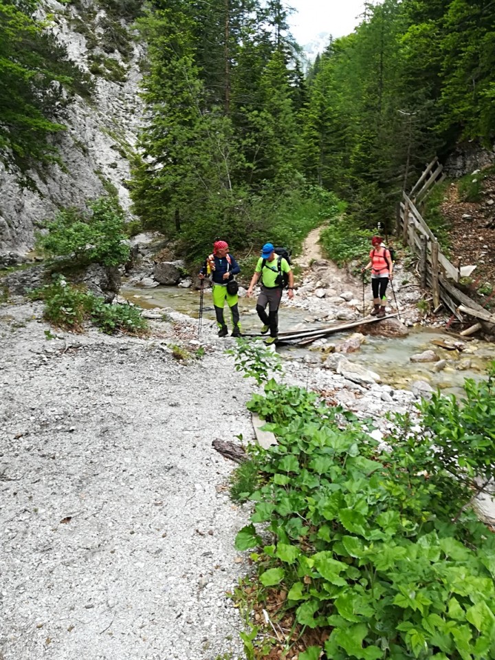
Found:
[{"label": "large leafy green plants filling the lower right beside the gravel", "polygon": [[472,477],[494,476],[493,376],[422,403],[428,437],[398,418],[388,450],[311,392],[269,381],[253,396],[278,445],[252,456],[263,485],[236,547],[256,549],[259,575],[241,600],[293,626],[284,657],[495,658],[495,537],[468,510]]}]

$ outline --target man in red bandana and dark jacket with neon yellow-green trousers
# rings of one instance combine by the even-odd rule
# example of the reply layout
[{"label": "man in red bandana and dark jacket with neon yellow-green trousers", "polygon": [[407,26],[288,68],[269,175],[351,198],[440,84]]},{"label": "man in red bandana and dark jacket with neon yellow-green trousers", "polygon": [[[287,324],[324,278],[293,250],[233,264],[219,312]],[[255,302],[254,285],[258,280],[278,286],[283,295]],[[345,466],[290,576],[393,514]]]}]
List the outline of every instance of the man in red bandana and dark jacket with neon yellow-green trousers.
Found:
[{"label": "man in red bandana and dark jacket with neon yellow-green trousers", "polygon": [[241,336],[239,325],[239,297],[237,296],[237,283],[234,275],[241,272],[239,264],[229,254],[228,244],[225,241],[216,241],[213,244],[213,253],[209,255],[203,268],[199,271],[199,279],[210,277],[212,281],[212,295],[219,337],[228,334],[227,324],[223,318],[223,306],[227,301],[232,315],[232,337]]}]

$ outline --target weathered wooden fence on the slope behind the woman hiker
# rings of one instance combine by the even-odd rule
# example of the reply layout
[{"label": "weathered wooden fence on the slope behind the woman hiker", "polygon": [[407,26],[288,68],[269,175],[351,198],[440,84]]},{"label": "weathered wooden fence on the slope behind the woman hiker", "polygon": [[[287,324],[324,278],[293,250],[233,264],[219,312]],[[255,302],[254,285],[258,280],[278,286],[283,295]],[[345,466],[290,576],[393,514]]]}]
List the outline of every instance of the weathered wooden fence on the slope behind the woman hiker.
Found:
[{"label": "weathered wooden fence on the slope behind the woman hiker", "polygon": [[[419,275],[423,288],[432,290],[434,312],[442,306],[450,310],[459,321],[464,321],[463,314],[487,323],[495,323],[495,315],[489,314],[469,296],[465,295],[456,284],[461,279],[460,271],[439,248],[437,238],[423,220],[418,206],[424,202],[434,183],[445,178],[443,167],[437,159],[432,160],[423,174],[407,195],[402,193],[402,200],[397,211],[397,236],[405,246],[419,257]],[[479,326],[479,323],[476,323]],[[470,334],[474,326],[465,331]],[[479,328],[476,328],[479,329]]]}]

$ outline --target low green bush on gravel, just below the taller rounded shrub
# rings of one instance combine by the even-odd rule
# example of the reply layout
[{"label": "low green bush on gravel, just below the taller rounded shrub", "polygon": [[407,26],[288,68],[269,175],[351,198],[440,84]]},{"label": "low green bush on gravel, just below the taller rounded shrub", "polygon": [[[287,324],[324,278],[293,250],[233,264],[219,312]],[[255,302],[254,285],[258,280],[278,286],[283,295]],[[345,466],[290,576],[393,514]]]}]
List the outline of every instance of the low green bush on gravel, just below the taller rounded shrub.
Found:
[{"label": "low green bush on gravel, just below the taller rounded shrub", "polygon": [[148,328],[137,308],[107,304],[103,298],[83,287],[72,286],[60,276],[52,284],[32,291],[30,297],[44,301],[43,317],[57,328],[82,332],[89,321],[107,334],[120,331],[140,335]]}]

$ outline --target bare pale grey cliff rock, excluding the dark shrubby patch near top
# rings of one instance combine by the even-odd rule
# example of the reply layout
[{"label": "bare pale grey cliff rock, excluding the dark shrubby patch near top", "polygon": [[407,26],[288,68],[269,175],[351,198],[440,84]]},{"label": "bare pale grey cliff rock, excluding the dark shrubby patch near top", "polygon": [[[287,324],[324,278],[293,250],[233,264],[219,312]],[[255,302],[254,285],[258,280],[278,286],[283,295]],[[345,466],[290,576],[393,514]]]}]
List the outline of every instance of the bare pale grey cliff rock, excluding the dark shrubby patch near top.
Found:
[{"label": "bare pale grey cliff rock, excluding the dark shrubby patch near top", "polygon": [[[78,9],[46,0],[44,12],[53,15],[54,32],[67,45],[69,56],[88,72],[85,36],[71,28]],[[57,209],[83,207],[86,200],[106,194],[109,187],[117,191],[122,208],[129,213],[131,202],[124,182],[130,176],[129,156],[142,116],[138,96],[140,56],[142,47],[133,45],[124,82],[94,76],[95,91],[89,102],[77,96],[69,106],[67,130],[54,142],[64,167],[54,164],[43,171],[42,177],[31,173],[39,193],[21,189],[16,176],[0,164],[0,257],[6,253],[25,254],[34,244],[36,223],[53,217]],[[118,53],[112,58],[122,64]]]}]

